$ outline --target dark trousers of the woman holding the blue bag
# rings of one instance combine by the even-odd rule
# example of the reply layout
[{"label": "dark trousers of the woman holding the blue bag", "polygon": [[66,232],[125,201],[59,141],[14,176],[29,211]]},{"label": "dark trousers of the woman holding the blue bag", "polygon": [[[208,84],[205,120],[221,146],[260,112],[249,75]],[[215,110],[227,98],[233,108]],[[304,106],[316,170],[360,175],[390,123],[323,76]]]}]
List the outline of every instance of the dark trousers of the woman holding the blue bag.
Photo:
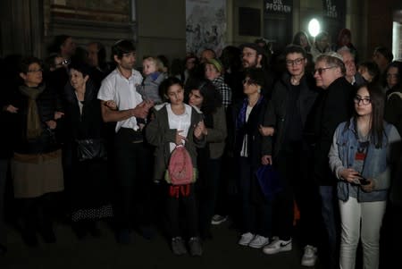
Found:
[{"label": "dark trousers of the woman holding the blue bag", "polygon": [[272,236],[272,204],[265,200],[248,158],[239,157],[241,232]]}]

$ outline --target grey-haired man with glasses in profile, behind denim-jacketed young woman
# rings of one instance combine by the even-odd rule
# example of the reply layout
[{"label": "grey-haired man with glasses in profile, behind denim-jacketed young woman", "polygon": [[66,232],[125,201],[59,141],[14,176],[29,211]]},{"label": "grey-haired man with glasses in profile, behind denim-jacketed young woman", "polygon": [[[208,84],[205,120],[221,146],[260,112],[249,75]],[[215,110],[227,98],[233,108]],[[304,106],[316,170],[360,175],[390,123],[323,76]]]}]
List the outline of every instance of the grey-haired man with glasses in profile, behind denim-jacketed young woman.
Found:
[{"label": "grey-haired man with glasses in profile, behind denim-jacketed young woman", "polygon": [[340,122],[348,121],[353,110],[355,89],[345,79],[346,67],[342,57],[330,52],[317,57],[314,67],[316,86],[322,88],[314,105],[314,180],[320,186],[322,220],[328,236],[328,262],[325,268],[338,268],[339,212],[335,195],[337,180],[329,169],[328,153],[334,131]]}]

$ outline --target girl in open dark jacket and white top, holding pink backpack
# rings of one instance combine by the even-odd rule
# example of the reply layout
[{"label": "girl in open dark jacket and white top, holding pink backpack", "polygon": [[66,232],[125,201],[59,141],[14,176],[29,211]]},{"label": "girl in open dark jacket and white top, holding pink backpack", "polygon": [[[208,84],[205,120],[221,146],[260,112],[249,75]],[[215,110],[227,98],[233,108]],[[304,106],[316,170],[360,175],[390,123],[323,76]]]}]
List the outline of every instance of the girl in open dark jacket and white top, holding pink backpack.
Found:
[{"label": "girl in open dark jacket and white top, holding pink backpack", "polygon": [[[197,172],[193,173],[191,182],[175,185],[167,170],[175,148],[185,147],[197,171],[197,147],[205,146],[205,125],[197,108],[184,103],[184,88],[178,78],[163,80],[159,90],[167,103],[155,105],[153,120],[146,128],[147,141],[155,146],[154,181],[161,182],[165,194],[166,223],[172,252],[179,256],[187,253],[183,239],[186,236],[191,256],[201,256],[203,248],[198,236],[194,188]],[[184,209],[187,233],[180,227],[180,205]]]}]

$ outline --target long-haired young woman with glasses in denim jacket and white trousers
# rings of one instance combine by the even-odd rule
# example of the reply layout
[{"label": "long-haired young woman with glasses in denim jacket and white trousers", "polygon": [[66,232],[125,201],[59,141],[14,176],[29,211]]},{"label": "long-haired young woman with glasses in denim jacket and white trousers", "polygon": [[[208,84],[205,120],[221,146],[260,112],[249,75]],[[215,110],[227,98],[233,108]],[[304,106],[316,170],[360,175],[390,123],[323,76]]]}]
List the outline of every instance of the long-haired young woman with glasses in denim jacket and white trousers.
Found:
[{"label": "long-haired young woman with glasses in denim jacket and white trousers", "polygon": [[339,124],[329,153],[338,179],[341,223],[340,268],[355,268],[359,240],[364,268],[379,267],[380,230],[390,185],[391,150],[400,136],[383,121],[384,95],[375,84],[360,87],[353,99],[355,112]]}]

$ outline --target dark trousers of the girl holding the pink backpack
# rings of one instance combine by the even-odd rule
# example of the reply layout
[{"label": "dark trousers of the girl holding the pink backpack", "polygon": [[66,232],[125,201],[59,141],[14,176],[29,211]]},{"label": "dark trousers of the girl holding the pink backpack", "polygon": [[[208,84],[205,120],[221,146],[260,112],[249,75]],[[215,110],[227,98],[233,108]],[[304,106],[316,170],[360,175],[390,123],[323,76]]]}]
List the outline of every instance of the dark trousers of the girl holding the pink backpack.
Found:
[{"label": "dark trousers of the girl holding the pink backpack", "polygon": [[[186,188],[189,188],[188,195],[183,195]],[[188,238],[198,236],[197,201],[194,184],[179,186],[178,196],[170,195],[172,185],[166,185],[166,215],[167,231],[171,238],[184,236],[182,227],[186,227]],[[180,213],[183,214],[180,214]],[[180,222],[183,220],[183,224]]]}]

